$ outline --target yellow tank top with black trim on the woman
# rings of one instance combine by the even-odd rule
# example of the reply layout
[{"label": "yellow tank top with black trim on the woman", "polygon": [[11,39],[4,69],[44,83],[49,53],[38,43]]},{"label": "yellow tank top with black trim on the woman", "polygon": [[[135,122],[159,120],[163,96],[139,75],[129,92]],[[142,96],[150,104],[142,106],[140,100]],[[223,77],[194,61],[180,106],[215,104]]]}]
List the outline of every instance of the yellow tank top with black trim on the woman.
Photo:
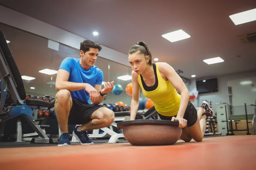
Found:
[{"label": "yellow tank top with black trim on the woman", "polygon": [[138,75],[143,95],[151,99],[158,113],[163,116],[175,116],[180,108],[180,94],[169,80],[164,80],[158,69],[159,63],[153,63],[156,82],[153,86],[145,85],[143,77]]}]

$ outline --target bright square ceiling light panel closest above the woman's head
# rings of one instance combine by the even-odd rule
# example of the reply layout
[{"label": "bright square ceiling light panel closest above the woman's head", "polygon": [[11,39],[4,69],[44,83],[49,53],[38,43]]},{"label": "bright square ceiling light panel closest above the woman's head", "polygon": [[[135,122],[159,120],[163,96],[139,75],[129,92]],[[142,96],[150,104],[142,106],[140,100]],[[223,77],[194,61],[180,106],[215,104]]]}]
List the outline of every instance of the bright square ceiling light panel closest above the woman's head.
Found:
[{"label": "bright square ceiling light panel closest above the woman's head", "polygon": [[175,42],[175,41],[184,40],[186,38],[190,38],[190,35],[187,34],[185,31],[183,31],[182,29],[180,29],[177,31],[169,32],[167,34],[163,34],[162,37],[164,37],[166,40],[169,40],[171,42]]}]

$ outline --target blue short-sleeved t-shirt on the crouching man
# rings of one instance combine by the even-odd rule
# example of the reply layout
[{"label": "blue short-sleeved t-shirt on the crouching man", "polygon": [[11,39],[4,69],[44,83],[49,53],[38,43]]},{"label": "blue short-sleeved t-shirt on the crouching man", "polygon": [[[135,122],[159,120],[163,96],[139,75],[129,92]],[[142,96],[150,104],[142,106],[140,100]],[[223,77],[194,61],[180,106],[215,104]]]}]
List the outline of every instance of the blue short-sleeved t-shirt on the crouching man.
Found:
[{"label": "blue short-sleeved t-shirt on the crouching man", "polygon": [[[93,65],[88,70],[82,68],[79,63],[79,59],[76,58],[65,58],[60,65],[59,69],[66,70],[70,73],[68,79],[69,82],[88,83],[94,87],[94,85],[102,85],[103,72]],[[84,104],[91,104],[90,95],[87,91],[70,91],[71,97]]]}]

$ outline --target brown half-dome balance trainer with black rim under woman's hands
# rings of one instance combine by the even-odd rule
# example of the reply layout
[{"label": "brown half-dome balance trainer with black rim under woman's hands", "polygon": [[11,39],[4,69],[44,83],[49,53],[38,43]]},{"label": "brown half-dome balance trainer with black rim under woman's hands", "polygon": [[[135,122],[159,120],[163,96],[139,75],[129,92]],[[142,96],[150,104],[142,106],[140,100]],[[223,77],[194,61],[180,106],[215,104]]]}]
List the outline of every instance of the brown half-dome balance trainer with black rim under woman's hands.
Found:
[{"label": "brown half-dome balance trainer with black rim under woman's hands", "polygon": [[125,139],[135,146],[171,145],[181,136],[179,122],[167,120],[132,120],[117,123]]}]

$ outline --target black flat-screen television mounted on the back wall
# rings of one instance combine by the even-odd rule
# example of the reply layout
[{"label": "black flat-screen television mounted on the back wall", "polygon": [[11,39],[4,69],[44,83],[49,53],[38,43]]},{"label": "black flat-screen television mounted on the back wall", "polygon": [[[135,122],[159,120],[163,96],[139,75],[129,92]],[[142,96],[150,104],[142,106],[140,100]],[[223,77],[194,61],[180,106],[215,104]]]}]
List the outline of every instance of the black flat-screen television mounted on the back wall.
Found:
[{"label": "black flat-screen television mounted on the back wall", "polygon": [[218,80],[214,79],[204,79],[196,81],[196,88],[198,94],[212,93],[218,91]]}]

